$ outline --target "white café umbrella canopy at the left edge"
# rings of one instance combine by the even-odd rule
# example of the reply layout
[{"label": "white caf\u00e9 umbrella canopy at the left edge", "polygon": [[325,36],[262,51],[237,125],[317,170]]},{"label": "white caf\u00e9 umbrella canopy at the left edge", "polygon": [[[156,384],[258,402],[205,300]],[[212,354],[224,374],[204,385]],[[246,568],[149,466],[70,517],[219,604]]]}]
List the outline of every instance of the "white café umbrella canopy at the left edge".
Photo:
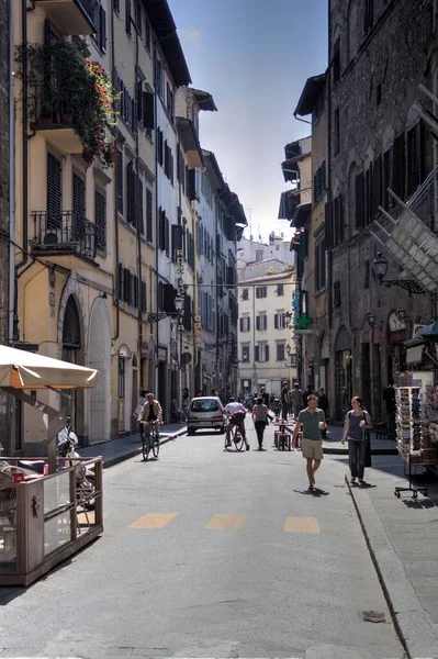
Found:
[{"label": "white caf\u00e9 umbrella canopy at the left edge", "polygon": [[0,346],[0,387],[14,389],[88,389],[98,372],[60,359]]}]

